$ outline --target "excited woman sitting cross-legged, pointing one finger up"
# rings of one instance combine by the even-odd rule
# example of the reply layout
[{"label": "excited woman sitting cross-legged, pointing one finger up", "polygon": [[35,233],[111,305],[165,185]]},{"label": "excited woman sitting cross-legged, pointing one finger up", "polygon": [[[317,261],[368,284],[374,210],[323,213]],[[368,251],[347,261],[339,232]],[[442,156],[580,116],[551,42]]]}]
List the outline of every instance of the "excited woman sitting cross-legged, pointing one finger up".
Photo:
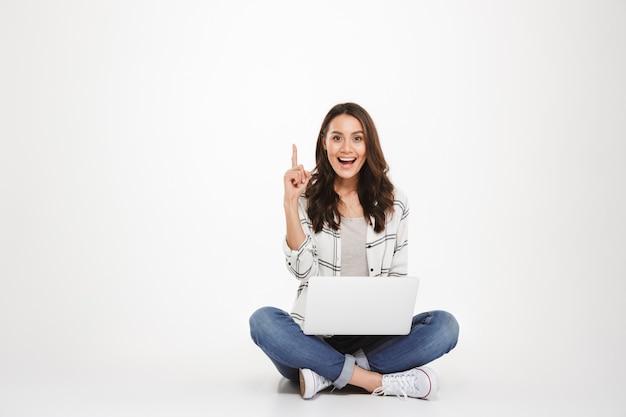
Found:
[{"label": "excited woman sitting cross-legged, pointing one finger up", "polygon": [[388,178],[378,133],[365,109],[334,106],[322,122],[312,172],[292,148],[284,176],[287,269],[299,280],[290,313],[262,307],[250,317],[253,341],[303,398],[334,385],[374,395],[427,399],[438,389],[427,363],[456,346],[459,327],[445,311],[413,317],[405,336],[305,335],[301,325],[308,278],[406,276],[406,196]]}]

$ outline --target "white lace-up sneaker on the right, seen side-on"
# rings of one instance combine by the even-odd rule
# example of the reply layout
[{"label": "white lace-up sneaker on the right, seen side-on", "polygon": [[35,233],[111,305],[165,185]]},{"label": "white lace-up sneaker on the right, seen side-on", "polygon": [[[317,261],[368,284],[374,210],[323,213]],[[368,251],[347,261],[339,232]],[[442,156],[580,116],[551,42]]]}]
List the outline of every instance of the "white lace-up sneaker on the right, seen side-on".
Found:
[{"label": "white lace-up sneaker on the right, seen side-on", "polygon": [[435,372],[424,366],[404,372],[383,375],[382,387],[372,395],[397,395],[422,400],[434,396],[439,391],[439,380]]}]

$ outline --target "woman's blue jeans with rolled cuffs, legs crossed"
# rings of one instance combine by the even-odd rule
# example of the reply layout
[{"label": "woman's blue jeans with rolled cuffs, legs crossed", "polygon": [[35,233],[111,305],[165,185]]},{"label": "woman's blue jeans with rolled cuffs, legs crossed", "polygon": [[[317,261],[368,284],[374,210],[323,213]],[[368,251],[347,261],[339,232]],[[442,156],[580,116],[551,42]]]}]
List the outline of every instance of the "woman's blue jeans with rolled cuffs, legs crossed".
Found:
[{"label": "woman's blue jeans with rolled cuffs, legs crossed", "polygon": [[250,316],[250,335],[285,378],[297,382],[298,370],[308,368],[343,388],[355,365],[388,374],[443,356],[456,346],[459,325],[452,314],[436,310],[413,317],[411,331],[405,336],[339,339],[335,343],[334,338],[305,335],[283,310],[261,307]]}]

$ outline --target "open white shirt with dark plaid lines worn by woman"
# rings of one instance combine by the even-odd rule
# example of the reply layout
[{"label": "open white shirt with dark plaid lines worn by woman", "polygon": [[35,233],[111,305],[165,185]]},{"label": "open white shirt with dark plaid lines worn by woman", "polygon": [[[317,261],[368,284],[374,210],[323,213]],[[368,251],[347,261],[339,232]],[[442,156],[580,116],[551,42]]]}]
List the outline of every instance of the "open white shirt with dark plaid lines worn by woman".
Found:
[{"label": "open white shirt with dark plaid lines worn by woman", "polygon": [[[408,271],[408,219],[409,204],[406,195],[396,189],[395,212],[385,219],[385,230],[376,233],[372,225],[367,226],[365,252],[369,275],[406,276]],[[298,211],[300,223],[306,235],[305,241],[296,250],[291,250],[287,240],[283,241],[287,269],[300,284],[291,309],[291,316],[298,322],[304,321],[304,306],[308,278],[316,275],[341,275],[341,233],[324,227],[314,233],[307,215],[308,200],[300,197]],[[374,219],[371,219],[372,223]]]}]

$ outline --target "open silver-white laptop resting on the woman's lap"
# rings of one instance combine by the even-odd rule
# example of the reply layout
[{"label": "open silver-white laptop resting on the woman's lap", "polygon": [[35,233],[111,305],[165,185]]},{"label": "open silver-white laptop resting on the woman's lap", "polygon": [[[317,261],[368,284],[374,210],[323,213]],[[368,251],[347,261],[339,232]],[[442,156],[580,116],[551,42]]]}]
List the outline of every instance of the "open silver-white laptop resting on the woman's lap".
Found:
[{"label": "open silver-white laptop resting on the woman's lap", "polygon": [[309,278],[302,330],[308,335],[405,335],[419,277]]}]

